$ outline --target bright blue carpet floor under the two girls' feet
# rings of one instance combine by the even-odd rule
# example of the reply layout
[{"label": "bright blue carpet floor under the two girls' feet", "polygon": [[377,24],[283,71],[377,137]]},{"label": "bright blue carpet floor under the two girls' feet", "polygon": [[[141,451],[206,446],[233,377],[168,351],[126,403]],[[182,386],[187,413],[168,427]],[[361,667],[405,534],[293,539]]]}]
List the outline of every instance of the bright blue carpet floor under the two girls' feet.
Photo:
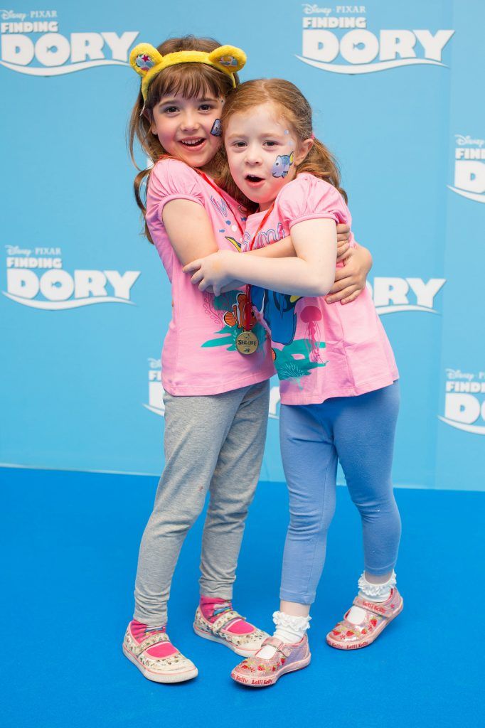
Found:
[{"label": "bright blue carpet floor under the two girls' feet", "polygon": [[[7,597],[0,724],[4,728],[483,725],[485,494],[399,490],[396,571],[405,609],[358,652],[326,646],[360,574],[358,515],[345,488],[312,609],[312,663],[272,688],[229,673],[239,661],[192,632],[202,519],[189,533],[170,600],[170,636],[199,668],[178,685],[147,681],[121,651],[156,481],[0,469],[1,574]],[[234,606],[271,630],[287,517],[285,488],[261,483],[248,518]],[[264,523],[264,527],[263,527]],[[482,573],[481,573],[482,571]],[[5,613],[4,613],[5,614]]]}]

